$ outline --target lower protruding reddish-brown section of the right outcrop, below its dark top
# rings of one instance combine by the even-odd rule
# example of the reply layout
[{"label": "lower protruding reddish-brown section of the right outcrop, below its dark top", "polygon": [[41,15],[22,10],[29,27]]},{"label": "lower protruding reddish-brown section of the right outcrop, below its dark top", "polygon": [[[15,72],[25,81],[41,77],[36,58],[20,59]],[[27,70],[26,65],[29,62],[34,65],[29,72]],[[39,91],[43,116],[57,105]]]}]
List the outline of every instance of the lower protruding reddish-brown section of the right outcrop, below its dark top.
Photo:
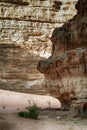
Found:
[{"label": "lower protruding reddish-brown section of the right outcrop, below its dark top", "polygon": [[[57,98],[65,100],[87,98],[87,49],[66,51],[39,62],[38,70],[45,74],[45,87]],[[67,101],[66,101],[67,102]]]}]

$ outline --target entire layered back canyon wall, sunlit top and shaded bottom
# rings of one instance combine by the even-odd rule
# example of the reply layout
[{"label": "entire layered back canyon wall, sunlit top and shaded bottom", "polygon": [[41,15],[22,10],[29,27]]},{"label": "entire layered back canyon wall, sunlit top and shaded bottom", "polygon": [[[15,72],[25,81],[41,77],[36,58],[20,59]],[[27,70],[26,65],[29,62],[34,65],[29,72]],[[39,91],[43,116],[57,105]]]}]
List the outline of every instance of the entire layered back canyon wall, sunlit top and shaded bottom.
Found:
[{"label": "entire layered back canyon wall, sunlit top and shaded bottom", "polygon": [[1,89],[46,94],[37,63],[51,55],[52,31],[76,14],[76,2],[0,0]]}]

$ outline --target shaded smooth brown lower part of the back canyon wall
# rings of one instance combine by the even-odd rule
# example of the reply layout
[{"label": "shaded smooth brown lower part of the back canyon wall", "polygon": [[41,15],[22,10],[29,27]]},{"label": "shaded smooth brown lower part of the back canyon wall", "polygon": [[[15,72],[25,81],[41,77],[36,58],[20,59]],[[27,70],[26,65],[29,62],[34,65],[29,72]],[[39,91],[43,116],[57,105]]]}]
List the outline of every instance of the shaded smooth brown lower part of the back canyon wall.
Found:
[{"label": "shaded smooth brown lower part of the back canyon wall", "polygon": [[37,70],[40,57],[14,44],[0,44],[0,89],[46,94],[43,75]]}]

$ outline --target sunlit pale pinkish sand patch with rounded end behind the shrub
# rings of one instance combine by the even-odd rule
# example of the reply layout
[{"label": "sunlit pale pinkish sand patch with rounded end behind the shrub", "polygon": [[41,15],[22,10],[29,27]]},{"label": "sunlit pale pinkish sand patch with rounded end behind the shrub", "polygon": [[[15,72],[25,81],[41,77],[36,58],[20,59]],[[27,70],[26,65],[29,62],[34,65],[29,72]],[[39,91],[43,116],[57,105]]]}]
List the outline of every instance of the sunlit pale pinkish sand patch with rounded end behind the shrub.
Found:
[{"label": "sunlit pale pinkish sand patch with rounded end behind the shrub", "polygon": [[14,113],[25,110],[26,107],[37,105],[44,108],[61,108],[58,99],[51,96],[41,96],[0,90],[0,113]]}]

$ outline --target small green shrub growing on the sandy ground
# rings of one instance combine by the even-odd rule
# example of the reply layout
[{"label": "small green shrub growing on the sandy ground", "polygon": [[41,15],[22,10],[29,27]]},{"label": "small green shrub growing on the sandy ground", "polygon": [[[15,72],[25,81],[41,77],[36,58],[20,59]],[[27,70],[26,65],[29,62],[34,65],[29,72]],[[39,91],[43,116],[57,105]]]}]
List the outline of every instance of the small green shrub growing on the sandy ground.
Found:
[{"label": "small green shrub growing on the sandy ground", "polygon": [[31,119],[38,119],[39,116],[39,108],[36,105],[26,108],[27,111],[19,112],[18,115],[20,117],[31,118]]}]

